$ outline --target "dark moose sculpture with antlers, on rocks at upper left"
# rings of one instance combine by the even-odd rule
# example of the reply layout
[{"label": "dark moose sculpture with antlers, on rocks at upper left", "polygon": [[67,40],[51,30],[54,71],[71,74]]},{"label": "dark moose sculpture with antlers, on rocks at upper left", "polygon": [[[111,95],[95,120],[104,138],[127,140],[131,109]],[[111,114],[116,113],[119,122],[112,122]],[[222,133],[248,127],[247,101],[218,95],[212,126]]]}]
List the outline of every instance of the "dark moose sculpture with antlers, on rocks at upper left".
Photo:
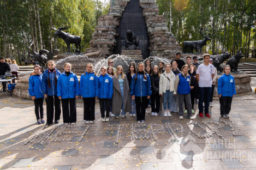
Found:
[{"label": "dark moose sculpture with antlers, on rocks at upper left", "polygon": [[[80,53],[81,52],[81,37],[77,36],[77,35],[70,35],[69,33],[65,33],[62,30],[68,29],[69,27],[65,26],[62,28],[58,28],[56,29],[55,27],[52,27],[52,29],[54,29],[56,32],[54,34],[54,37],[57,38],[57,36],[59,38],[62,38],[64,40],[64,42],[67,44],[68,47],[68,53],[70,53],[70,44],[75,44],[76,46],[76,53]],[[79,46],[79,49],[78,49]]]}]

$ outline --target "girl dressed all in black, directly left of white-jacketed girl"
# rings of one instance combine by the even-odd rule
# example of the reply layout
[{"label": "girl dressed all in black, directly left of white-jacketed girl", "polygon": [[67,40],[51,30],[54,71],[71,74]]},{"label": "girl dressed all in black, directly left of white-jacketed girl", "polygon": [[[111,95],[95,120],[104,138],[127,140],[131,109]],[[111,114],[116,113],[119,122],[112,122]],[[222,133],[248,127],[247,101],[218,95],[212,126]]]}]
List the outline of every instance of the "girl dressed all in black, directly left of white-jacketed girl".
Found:
[{"label": "girl dressed all in black, directly left of white-jacketed girl", "polygon": [[[150,75],[151,91],[152,91],[152,95],[150,96],[152,116],[157,116],[160,109],[160,95],[159,95],[159,91],[157,91],[157,89],[159,90],[159,80],[160,80],[159,69],[157,65],[154,65],[153,73],[152,75]],[[156,105],[154,105],[155,101],[156,101]]]}]

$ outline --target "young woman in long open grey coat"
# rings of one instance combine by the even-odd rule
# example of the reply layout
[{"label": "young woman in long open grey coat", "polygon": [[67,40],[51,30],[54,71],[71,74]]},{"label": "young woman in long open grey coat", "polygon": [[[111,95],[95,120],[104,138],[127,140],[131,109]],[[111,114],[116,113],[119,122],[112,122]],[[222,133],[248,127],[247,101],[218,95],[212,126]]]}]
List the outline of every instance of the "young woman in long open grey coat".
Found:
[{"label": "young woman in long open grey coat", "polygon": [[130,108],[130,88],[126,75],[123,74],[121,65],[117,66],[116,75],[112,77],[113,80],[113,97],[112,97],[112,114],[116,118],[120,118],[120,111],[122,110],[122,118],[126,117],[126,112],[131,112]]}]

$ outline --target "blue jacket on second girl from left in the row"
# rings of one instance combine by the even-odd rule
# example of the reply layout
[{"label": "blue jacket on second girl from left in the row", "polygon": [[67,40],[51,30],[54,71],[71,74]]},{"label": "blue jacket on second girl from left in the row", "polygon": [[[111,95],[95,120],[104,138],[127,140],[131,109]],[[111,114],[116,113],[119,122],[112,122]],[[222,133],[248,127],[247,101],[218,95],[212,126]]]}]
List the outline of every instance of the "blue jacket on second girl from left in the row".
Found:
[{"label": "blue jacket on second girl from left in the row", "polygon": [[[55,68],[54,72],[50,72],[49,69],[44,71],[43,74],[43,94],[47,94],[49,96],[57,95],[57,87],[55,86],[55,73],[58,78],[61,75],[61,72]],[[48,86],[48,76],[50,78],[51,87]]]}]

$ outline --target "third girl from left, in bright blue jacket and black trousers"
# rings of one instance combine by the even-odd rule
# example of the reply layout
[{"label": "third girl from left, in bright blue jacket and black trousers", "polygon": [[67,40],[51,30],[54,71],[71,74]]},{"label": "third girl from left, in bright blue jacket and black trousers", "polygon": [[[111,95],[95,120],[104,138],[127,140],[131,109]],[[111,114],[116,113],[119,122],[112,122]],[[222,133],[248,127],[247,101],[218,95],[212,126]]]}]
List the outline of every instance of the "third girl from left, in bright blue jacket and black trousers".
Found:
[{"label": "third girl from left, in bright blue jacket and black trousers", "polygon": [[71,71],[71,64],[64,64],[64,72],[59,75],[57,96],[62,102],[64,125],[76,123],[76,99],[79,98],[78,77]]}]

